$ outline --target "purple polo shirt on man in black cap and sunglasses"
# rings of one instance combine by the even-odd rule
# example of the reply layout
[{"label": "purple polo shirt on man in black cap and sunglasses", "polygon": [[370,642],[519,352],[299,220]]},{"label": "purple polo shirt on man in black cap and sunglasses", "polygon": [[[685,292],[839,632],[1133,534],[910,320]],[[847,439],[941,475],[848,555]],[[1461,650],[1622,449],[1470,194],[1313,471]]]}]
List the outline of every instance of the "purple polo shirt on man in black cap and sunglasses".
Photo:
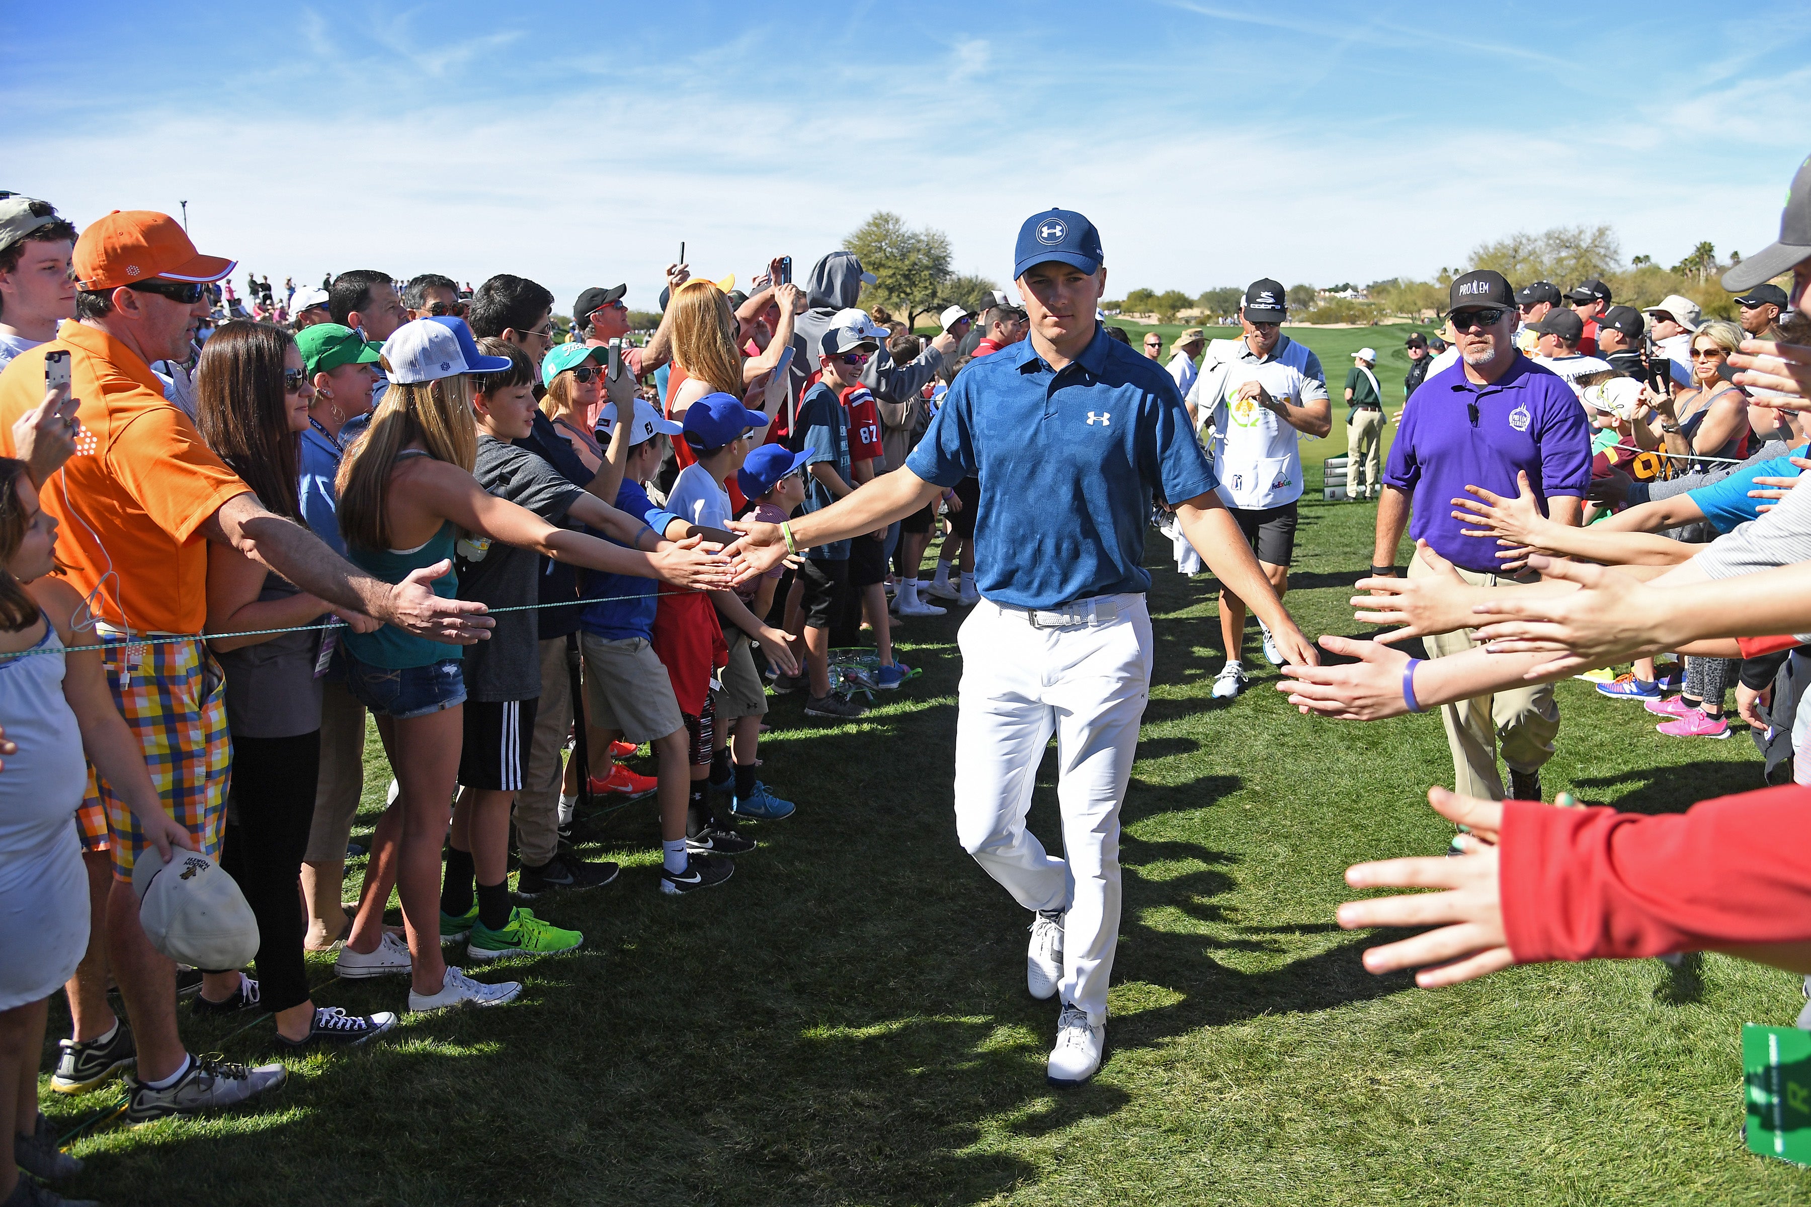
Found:
[{"label": "purple polo shirt on man in black cap and sunglasses", "polygon": [[[1478,418],[1472,420],[1471,405]],[[1590,485],[1590,420],[1565,380],[1521,353],[1489,385],[1465,376],[1456,360],[1422,382],[1402,407],[1384,481],[1414,496],[1409,536],[1433,545],[1456,566],[1496,574],[1496,537],[1463,536],[1452,499],[1465,487],[1514,498],[1516,472],[1527,470],[1547,514],[1554,496],[1585,498]]]}]

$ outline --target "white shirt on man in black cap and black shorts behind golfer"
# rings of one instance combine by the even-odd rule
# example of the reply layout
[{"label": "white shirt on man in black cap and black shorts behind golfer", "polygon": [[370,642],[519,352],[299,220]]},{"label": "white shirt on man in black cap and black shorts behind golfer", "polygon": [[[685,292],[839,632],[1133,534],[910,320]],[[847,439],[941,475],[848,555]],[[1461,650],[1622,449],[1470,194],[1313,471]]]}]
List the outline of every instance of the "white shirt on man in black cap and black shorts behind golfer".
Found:
[{"label": "white shirt on man in black cap and black shorts behind golfer", "polygon": [[1201,358],[1201,375],[1188,402],[1210,429],[1208,452],[1221,480],[1221,501],[1260,510],[1302,498],[1300,432],[1273,411],[1241,400],[1239,387],[1259,382],[1271,398],[1291,407],[1327,396],[1327,375],[1304,344],[1288,335],[1270,356],[1259,358],[1246,342],[1213,340]]}]

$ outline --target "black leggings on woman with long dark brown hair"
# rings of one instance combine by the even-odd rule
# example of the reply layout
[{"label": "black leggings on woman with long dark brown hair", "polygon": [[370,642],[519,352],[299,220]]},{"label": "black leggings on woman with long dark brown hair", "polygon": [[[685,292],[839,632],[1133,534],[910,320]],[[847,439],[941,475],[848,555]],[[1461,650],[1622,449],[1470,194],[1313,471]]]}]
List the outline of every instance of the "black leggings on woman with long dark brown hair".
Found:
[{"label": "black leggings on woman with long dark brown hair", "polygon": [[302,856],[315,818],[321,731],[232,740],[232,791],[221,867],[257,917],[261,1004],[275,1013],[308,1001],[302,966]]}]

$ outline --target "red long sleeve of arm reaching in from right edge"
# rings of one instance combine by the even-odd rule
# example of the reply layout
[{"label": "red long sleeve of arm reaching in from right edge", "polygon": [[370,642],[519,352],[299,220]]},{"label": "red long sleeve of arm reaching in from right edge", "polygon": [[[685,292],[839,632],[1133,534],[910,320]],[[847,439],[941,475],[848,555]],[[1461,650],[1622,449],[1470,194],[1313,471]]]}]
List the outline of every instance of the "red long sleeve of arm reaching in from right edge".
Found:
[{"label": "red long sleeve of arm reaching in from right edge", "polygon": [[1498,867],[1519,963],[1811,941],[1811,787],[1662,816],[1507,800]]}]

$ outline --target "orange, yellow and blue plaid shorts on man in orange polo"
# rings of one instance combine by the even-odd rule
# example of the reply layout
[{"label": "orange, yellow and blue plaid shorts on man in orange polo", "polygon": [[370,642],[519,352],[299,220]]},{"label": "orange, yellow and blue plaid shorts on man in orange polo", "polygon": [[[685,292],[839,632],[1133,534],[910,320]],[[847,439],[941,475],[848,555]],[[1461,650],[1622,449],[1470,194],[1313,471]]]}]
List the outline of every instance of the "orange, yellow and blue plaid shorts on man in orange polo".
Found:
[{"label": "orange, yellow and blue plaid shorts on man in orange polo", "polygon": [[[226,825],[226,778],[232,738],[226,733],[226,677],[201,639],[141,646],[127,659],[125,641],[105,635],[107,686],[125,724],[145,747],[150,782],[163,811],[196,840],[196,849],[219,856]],[[130,671],[125,686],[121,671]],[[105,780],[100,782],[112,834],[114,878],[132,879],[132,861],[150,847],[138,818]]]}]

